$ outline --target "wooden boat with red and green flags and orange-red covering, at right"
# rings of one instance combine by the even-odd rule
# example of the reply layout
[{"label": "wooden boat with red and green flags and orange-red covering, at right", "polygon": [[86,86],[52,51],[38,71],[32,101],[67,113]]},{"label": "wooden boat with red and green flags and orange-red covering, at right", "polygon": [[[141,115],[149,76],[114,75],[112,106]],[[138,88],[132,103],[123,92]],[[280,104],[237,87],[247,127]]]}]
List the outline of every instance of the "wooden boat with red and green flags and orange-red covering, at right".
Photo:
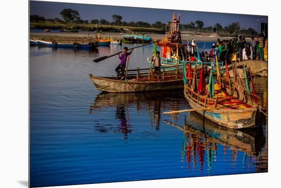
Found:
[{"label": "wooden boat with red and green flags and orange-red covering, at right", "polygon": [[[188,68],[184,73],[189,75],[191,72]],[[231,129],[260,126],[256,124],[256,120],[261,117],[260,104],[253,92],[246,91],[240,77],[236,76],[234,79],[236,81],[230,81],[227,78],[221,79],[218,74],[218,82],[214,83],[211,74],[210,84],[205,85],[205,78],[200,76],[197,85],[197,79],[192,79],[191,76],[186,78],[186,74],[183,74],[184,96],[197,113],[220,126]]]}]

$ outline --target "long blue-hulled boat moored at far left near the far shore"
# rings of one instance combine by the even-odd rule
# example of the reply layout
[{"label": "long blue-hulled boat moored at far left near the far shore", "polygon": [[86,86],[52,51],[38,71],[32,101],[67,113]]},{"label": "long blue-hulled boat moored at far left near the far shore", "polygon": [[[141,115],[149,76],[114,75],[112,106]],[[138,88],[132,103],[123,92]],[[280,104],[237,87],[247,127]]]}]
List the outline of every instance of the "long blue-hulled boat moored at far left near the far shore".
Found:
[{"label": "long blue-hulled boat moored at far left near the far shore", "polygon": [[36,39],[39,45],[56,48],[88,48],[94,49],[99,45],[95,38],[51,38]]}]

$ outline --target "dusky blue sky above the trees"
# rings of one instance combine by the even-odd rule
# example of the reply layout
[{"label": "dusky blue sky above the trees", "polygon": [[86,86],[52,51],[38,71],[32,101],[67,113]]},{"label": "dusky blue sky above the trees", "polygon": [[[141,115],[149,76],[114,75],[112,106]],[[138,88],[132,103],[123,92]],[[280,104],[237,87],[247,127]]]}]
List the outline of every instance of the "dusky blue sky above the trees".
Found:
[{"label": "dusky blue sky above the trees", "polygon": [[148,9],[135,7],[119,7],[119,6],[102,6],[87,5],[74,3],[57,3],[57,2],[30,2],[30,14],[40,15],[45,18],[61,18],[60,12],[64,8],[77,10],[83,20],[106,19],[112,21],[111,15],[118,14],[123,17],[122,21],[145,21],[154,23],[155,21],[168,22],[172,19],[172,14],[180,13],[180,23],[187,24],[191,21],[202,20],[204,27],[214,26],[217,22],[223,27],[228,26],[232,22],[238,21],[241,28],[253,28],[260,32],[261,22],[267,22],[267,16],[261,15],[245,15],[245,14],[227,14],[213,12],[183,11],[183,10],[167,10],[167,9]]}]

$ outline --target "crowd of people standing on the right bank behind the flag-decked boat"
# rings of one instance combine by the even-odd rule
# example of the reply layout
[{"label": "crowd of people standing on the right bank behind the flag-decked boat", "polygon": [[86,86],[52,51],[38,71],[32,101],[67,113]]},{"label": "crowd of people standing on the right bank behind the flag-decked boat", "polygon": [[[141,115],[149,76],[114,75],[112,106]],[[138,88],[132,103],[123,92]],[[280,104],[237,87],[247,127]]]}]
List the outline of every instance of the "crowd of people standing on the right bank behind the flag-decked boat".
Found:
[{"label": "crowd of people standing on the right bank behind the flag-decked boat", "polygon": [[[214,43],[209,54],[207,52],[200,53],[200,59],[203,62],[218,62],[229,63],[233,58],[239,61],[245,60],[266,60],[264,58],[264,48],[267,46],[267,39],[265,40],[262,35],[259,37],[252,37],[250,42],[247,42],[241,35],[233,37],[230,40],[220,40]],[[197,57],[197,45],[192,40],[191,58]]]}]

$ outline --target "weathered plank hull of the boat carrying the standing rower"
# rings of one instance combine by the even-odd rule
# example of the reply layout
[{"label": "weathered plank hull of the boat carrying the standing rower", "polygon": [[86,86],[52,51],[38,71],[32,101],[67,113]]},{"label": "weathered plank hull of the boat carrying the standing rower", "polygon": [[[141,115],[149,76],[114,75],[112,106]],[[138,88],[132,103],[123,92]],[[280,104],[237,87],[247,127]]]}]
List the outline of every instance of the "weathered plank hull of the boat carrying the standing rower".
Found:
[{"label": "weathered plank hull of the boat carrying the standing rower", "polygon": [[99,90],[106,92],[144,92],[183,88],[182,79],[157,82],[136,82],[132,80],[121,81],[115,80],[114,78],[96,77],[91,74],[89,74],[89,77]]}]

